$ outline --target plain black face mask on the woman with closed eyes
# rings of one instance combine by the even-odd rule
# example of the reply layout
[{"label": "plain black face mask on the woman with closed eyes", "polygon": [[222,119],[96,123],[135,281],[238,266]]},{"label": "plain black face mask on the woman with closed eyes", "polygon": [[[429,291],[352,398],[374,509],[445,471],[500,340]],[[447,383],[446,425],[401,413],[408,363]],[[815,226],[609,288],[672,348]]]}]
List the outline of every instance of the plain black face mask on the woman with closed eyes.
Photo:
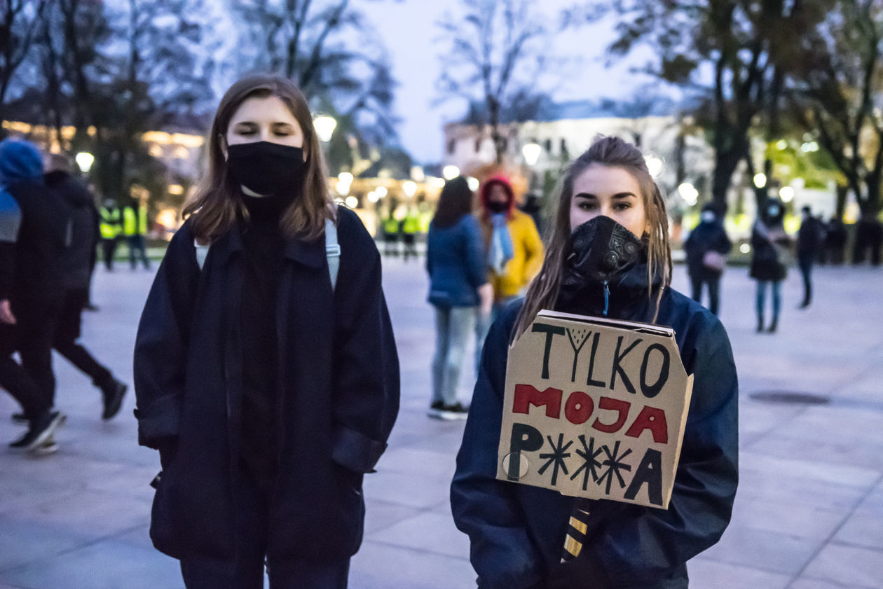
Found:
[{"label": "plain black face mask on the woman with closed eyes", "polygon": [[304,149],[270,141],[238,143],[227,148],[230,173],[253,193],[298,193],[306,169]]}]

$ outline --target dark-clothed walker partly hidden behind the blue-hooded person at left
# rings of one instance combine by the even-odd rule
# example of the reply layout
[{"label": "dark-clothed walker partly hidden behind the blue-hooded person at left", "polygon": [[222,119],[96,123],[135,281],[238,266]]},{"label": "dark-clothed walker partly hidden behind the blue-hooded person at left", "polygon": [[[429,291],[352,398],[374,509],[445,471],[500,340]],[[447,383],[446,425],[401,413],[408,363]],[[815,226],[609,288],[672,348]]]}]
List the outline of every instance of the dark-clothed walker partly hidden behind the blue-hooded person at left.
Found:
[{"label": "dark-clothed walker partly hidden behind the blue-hooded person at left", "polygon": [[102,366],[79,344],[82,314],[89,301],[93,256],[98,243],[98,212],[92,193],[71,175],[71,164],[64,155],[49,156],[44,182],[59,194],[71,208],[71,243],[64,251],[64,300],[56,324],[52,347],[92,378],[102,392],[102,419],[112,419],[123,404],[127,386]]}]

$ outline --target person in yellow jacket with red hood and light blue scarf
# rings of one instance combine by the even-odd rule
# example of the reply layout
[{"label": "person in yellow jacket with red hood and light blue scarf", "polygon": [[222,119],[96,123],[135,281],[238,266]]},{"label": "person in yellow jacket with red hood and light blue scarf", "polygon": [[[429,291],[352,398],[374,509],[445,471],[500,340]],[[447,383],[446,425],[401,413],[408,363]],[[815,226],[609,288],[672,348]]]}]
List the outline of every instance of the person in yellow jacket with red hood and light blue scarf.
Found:
[{"label": "person in yellow jacket with red hood and light blue scarf", "polygon": [[489,318],[476,321],[475,366],[479,366],[487,330],[509,301],[524,296],[543,265],[543,242],[530,215],[515,206],[506,177],[491,177],[481,186],[479,222],[487,252],[487,280],[494,287]]}]

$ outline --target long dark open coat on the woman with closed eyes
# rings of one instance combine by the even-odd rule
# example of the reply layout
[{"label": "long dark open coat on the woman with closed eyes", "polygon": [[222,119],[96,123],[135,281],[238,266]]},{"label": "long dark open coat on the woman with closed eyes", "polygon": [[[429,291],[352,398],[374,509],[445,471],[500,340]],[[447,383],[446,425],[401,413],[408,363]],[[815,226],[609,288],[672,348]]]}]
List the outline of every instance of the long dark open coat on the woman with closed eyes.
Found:
[{"label": "long dark open coat on the woman with closed eyes", "polygon": [[[268,531],[268,555],[279,561],[339,559],[358,550],[362,475],[386,448],[398,411],[398,359],[380,255],[344,208],[338,241],[334,291],[322,238],[285,245],[276,323],[280,452]],[[200,272],[185,223],[140,321],[139,442],[161,449],[170,463],[150,534],[155,547],[177,558],[233,556],[244,271],[238,227],[215,240]]]}]

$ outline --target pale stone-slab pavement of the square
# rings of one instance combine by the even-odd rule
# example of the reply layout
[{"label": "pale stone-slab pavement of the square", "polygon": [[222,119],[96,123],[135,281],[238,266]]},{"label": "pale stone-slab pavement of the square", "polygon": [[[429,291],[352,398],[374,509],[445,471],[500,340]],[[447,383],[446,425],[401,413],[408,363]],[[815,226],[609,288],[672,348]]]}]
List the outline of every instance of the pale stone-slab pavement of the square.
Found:
[{"label": "pale stone-slab pavement of the square", "polygon": [[[99,269],[98,313],[83,342],[126,381],[152,275]],[[378,472],[366,477],[365,542],[353,589],[474,587],[469,543],[454,527],[448,486],[462,422],[426,418],[434,346],[422,262],[390,259],[384,284],[402,366],[402,409]],[[797,311],[800,281],[783,289],[780,331],[754,333],[745,268],[723,279],[721,319],[740,381],[741,482],[721,542],[689,564],[698,589],[883,587],[883,268],[817,268],[817,300]],[[686,288],[683,267],[675,287]],[[471,356],[469,357],[471,358]],[[109,423],[97,389],[56,359],[60,450],[23,457],[0,395],[0,589],[179,589],[176,561],[147,538],[155,452],[139,448],[134,397]],[[460,396],[471,395],[472,366]],[[804,392],[828,404],[781,404],[758,392]]]}]

